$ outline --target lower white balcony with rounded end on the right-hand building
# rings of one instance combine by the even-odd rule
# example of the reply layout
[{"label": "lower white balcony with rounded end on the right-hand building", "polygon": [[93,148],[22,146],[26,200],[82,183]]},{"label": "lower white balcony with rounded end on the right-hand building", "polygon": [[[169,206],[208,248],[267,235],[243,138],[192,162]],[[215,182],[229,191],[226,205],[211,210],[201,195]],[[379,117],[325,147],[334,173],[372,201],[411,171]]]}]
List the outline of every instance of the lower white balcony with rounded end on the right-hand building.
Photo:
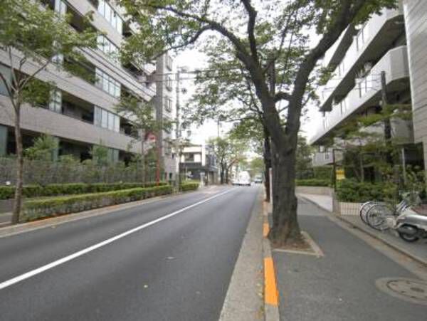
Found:
[{"label": "lower white balcony with rounded end on the right-hand building", "polygon": [[332,134],[338,125],[357,112],[367,107],[379,105],[381,100],[381,71],[386,73],[386,90],[388,93],[399,93],[409,90],[409,70],[406,46],[391,49],[372,68],[365,78],[356,80],[356,85],[348,95],[332,107],[323,118],[323,122],[310,144],[317,144]]}]

